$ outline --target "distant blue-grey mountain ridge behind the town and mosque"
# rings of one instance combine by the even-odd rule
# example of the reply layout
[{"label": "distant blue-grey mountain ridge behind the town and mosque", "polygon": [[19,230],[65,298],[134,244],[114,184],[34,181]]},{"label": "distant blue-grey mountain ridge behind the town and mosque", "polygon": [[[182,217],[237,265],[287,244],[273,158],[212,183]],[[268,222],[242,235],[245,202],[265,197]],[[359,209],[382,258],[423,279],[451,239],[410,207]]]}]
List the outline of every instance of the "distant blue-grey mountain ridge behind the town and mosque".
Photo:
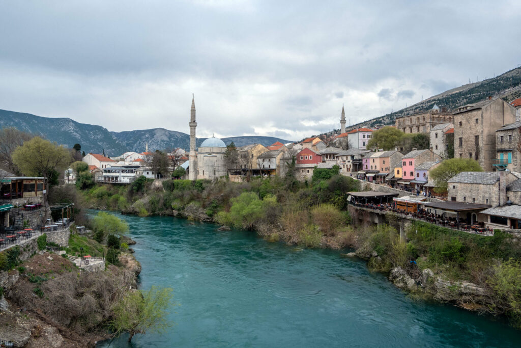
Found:
[{"label": "distant blue-grey mountain ridge behind the town and mosque", "polygon": [[[8,110],[0,110],[0,127],[15,127],[27,133],[56,141],[69,148],[72,148],[75,143],[79,143],[85,153],[101,153],[105,150],[105,153],[110,156],[117,156],[126,151],[143,152],[146,143],[148,143],[149,150],[169,148],[188,150],[190,148],[190,136],[176,130],[153,128],[114,132],[102,126],[79,123],[67,117],[42,117]],[[197,138],[197,146],[201,145],[205,139]],[[291,142],[264,136],[230,137],[222,138],[222,141],[226,144],[234,141],[238,147],[254,142],[264,146],[276,141]]]}]

